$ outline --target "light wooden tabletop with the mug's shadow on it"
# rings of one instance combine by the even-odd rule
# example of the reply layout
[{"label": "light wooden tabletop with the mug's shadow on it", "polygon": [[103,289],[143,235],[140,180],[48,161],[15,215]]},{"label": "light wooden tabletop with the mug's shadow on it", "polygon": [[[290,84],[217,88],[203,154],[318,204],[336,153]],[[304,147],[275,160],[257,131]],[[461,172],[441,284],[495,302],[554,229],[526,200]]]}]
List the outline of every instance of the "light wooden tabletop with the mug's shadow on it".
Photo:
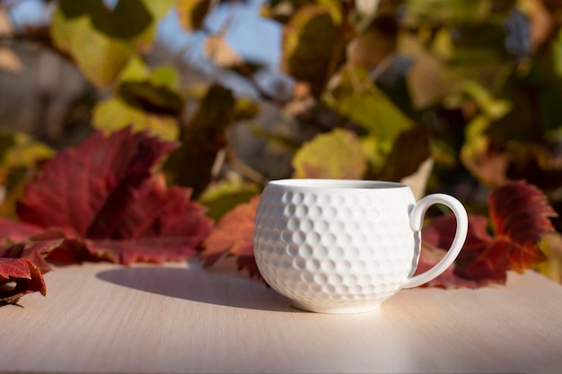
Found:
[{"label": "light wooden tabletop with the mug's shadow on it", "polygon": [[0,372],[562,372],[562,286],[540,274],[403,290],[339,316],[186,265],[72,265],[46,280],[46,298],[0,308]]}]

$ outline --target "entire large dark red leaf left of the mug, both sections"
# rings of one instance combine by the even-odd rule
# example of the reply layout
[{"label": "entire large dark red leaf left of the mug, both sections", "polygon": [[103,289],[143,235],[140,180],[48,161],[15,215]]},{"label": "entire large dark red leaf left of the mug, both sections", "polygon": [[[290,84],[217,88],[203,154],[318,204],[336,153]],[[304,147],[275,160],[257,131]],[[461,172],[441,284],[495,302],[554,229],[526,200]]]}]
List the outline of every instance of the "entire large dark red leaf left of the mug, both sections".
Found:
[{"label": "entire large dark red leaf left of the mug, both sections", "polygon": [[0,221],[0,232],[66,239],[61,249],[75,259],[127,265],[193,257],[213,223],[189,188],[168,188],[154,172],[175,147],[130,127],[96,132],[45,164],[17,204],[22,222]]}]

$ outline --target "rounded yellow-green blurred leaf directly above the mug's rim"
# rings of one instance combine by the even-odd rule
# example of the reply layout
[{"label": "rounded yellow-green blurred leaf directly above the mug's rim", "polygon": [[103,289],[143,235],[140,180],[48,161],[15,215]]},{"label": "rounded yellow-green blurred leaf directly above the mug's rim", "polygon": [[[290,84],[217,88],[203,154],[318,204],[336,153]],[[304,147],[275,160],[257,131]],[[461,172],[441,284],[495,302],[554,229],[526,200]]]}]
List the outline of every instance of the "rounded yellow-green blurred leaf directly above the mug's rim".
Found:
[{"label": "rounded yellow-green blurred leaf directly above the mug's rim", "polygon": [[316,135],[293,159],[294,178],[363,178],[367,160],[351,131],[336,128]]}]

